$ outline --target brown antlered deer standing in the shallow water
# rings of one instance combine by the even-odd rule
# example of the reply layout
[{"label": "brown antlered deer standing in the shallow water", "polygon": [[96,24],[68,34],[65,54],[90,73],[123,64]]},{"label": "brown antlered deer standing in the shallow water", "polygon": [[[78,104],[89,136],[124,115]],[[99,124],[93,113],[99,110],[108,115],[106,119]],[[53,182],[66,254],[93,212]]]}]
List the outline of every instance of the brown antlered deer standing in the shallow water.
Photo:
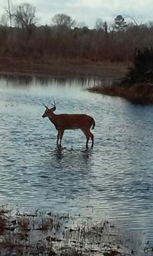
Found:
[{"label": "brown antlered deer standing in the shallow water", "polygon": [[[44,105],[44,104],[43,104]],[[52,104],[53,105],[53,104]],[[65,130],[71,129],[80,129],[83,131],[83,134],[86,136],[86,148],[88,148],[88,142],[91,138],[92,147],[94,136],[90,131],[90,128],[95,127],[95,120],[90,115],[85,114],[54,114],[54,111],[57,109],[54,103],[52,108],[46,108],[42,118],[49,118],[50,122],[54,124],[57,129],[57,146],[61,148],[61,141],[63,138],[63,133]],[[59,143],[60,140],[60,143]]]}]

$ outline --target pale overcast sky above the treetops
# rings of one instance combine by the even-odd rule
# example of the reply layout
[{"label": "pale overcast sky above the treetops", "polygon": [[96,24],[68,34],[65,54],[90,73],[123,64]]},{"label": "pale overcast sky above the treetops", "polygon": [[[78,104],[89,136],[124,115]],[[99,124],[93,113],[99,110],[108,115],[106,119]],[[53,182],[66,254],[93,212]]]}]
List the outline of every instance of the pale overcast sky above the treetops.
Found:
[{"label": "pale overcast sky above the treetops", "polygon": [[[5,12],[8,0],[0,0],[0,15]],[[28,2],[37,10],[40,25],[50,25],[57,13],[70,15],[77,22],[93,28],[96,19],[113,22],[116,15],[130,15],[138,23],[153,21],[153,0],[10,0],[10,5]]]}]

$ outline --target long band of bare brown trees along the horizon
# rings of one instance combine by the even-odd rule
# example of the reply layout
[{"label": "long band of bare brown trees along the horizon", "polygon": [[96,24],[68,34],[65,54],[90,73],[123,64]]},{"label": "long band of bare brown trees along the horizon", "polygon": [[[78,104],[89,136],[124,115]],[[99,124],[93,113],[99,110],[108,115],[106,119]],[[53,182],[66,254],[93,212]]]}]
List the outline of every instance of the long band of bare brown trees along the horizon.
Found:
[{"label": "long band of bare brown trees along the horizon", "polygon": [[[50,59],[129,62],[135,48],[153,45],[153,23],[138,25],[118,15],[111,26],[97,19],[95,28],[77,25],[68,15],[58,14],[52,25],[37,25],[34,6],[22,4],[6,12],[0,26],[0,55],[47,62]],[[9,25],[8,25],[9,22]]]}]

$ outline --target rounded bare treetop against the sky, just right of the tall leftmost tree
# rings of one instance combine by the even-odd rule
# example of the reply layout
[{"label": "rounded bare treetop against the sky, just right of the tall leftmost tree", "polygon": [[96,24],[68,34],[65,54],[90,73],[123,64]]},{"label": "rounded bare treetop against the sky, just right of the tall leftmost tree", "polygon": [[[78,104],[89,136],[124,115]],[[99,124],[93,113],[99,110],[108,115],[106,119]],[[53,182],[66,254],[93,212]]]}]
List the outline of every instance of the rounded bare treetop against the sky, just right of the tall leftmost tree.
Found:
[{"label": "rounded bare treetop against the sky, just right of the tall leftmost tree", "polygon": [[52,18],[54,25],[60,28],[73,28],[76,22],[68,15],[59,13]]}]

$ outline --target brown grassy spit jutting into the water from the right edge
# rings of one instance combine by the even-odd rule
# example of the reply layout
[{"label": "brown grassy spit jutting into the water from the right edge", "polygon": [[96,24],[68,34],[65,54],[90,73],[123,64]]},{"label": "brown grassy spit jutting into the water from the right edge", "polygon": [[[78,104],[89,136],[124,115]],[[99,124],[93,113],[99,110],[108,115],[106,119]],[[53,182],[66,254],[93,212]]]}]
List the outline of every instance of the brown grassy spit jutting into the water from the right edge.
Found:
[{"label": "brown grassy spit jutting into the water from the right edge", "polygon": [[138,83],[132,86],[111,85],[95,86],[88,88],[88,91],[101,93],[103,95],[125,98],[133,104],[149,105],[153,104],[153,85]]}]

